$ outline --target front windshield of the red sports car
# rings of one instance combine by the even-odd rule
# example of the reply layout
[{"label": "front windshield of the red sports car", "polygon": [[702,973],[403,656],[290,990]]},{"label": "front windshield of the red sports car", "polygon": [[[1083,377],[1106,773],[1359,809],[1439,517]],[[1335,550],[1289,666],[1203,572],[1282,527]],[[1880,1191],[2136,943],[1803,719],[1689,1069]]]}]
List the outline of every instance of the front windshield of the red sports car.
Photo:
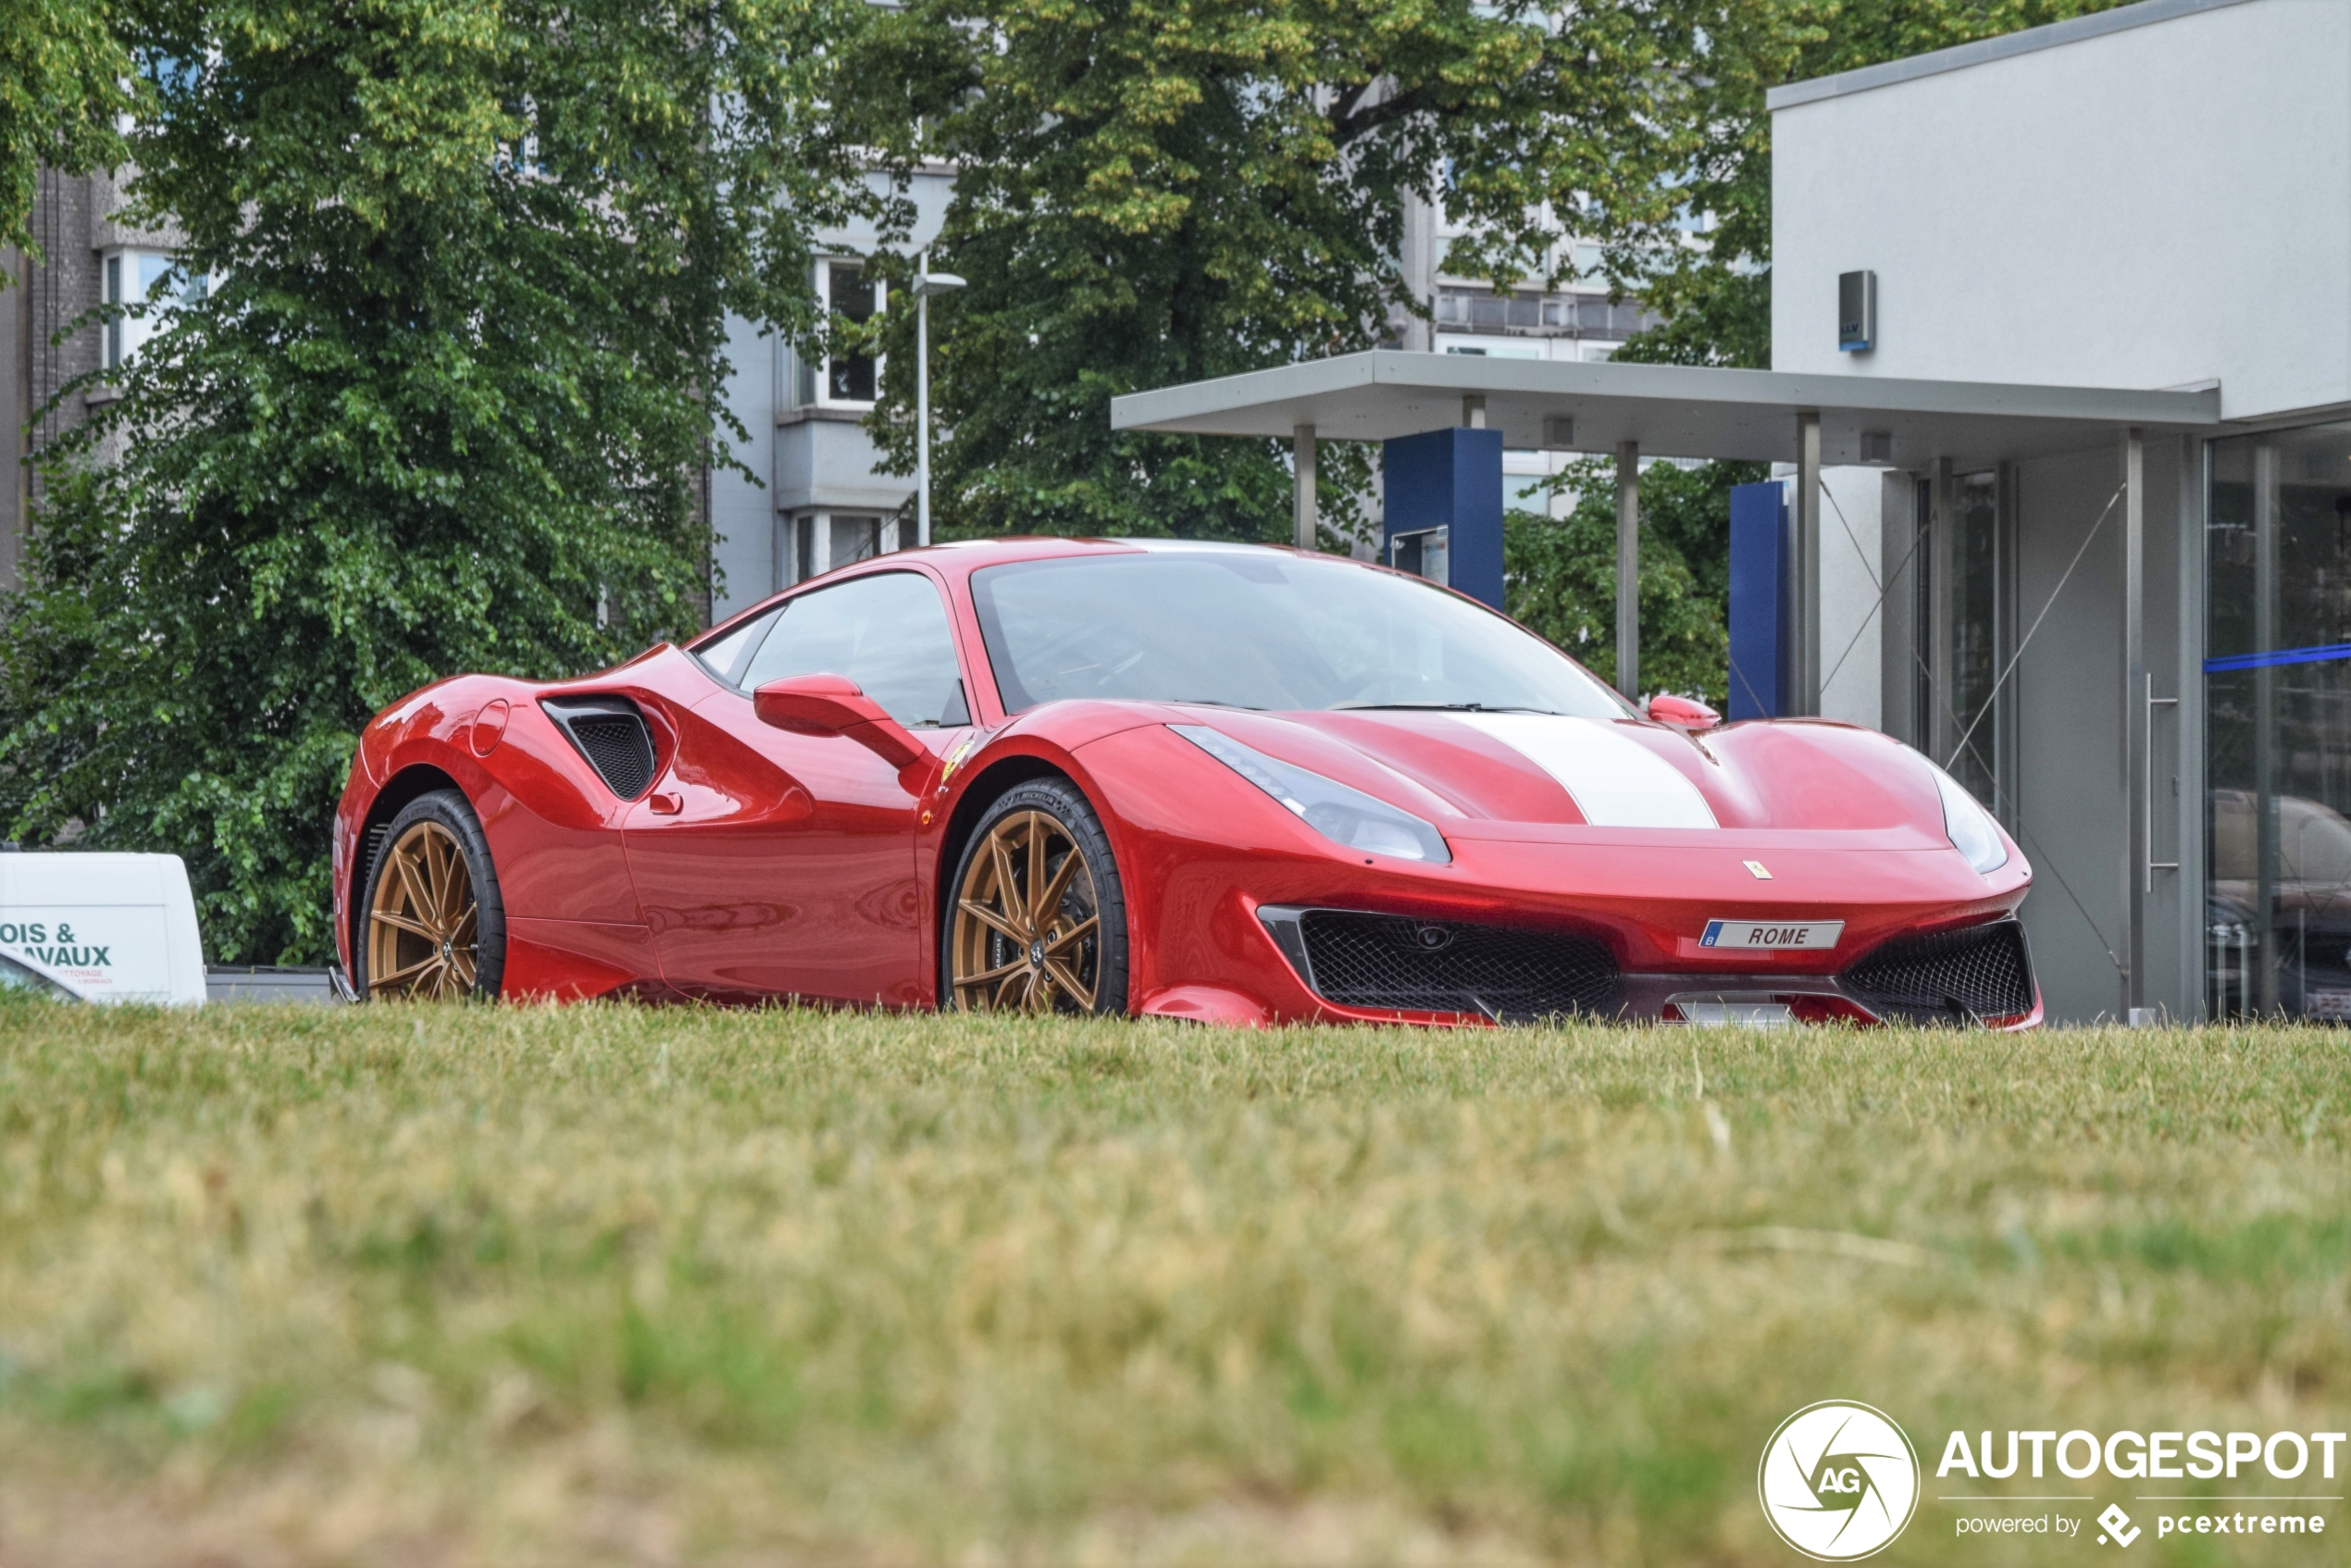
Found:
[{"label": "front windshield of the red sports car", "polygon": [[1620,719],[1559,649],[1418,578],[1272,550],[1138,550],[971,576],[1009,712],[1056,698]]}]

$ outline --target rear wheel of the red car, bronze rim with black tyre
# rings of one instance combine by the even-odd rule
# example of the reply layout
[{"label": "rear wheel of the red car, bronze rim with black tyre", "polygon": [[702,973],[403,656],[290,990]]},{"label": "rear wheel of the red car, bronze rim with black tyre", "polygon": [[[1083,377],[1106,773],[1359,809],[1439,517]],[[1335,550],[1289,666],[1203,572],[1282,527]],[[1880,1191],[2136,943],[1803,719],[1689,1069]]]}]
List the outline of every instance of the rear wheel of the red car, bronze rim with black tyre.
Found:
[{"label": "rear wheel of the red car, bronze rim with black tyre", "polygon": [[369,1001],[494,999],[505,973],[505,903],[482,818],[456,790],[418,795],[367,870],[353,990]]}]

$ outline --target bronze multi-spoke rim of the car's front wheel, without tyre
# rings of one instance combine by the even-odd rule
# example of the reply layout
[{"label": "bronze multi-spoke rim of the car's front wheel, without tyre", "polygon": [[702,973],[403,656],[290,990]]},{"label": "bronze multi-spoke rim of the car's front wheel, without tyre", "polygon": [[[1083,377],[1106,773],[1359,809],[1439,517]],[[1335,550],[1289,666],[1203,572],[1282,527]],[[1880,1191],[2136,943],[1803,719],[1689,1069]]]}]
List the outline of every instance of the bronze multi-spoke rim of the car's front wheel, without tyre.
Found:
[{"label": "bronze multi-spoke rim of the car's front wheel, without tyre", "polygon": [[1093,867],[1046,811],[997,818],[955,900],[955,1006],[1091,1013],[1103,969]]}]

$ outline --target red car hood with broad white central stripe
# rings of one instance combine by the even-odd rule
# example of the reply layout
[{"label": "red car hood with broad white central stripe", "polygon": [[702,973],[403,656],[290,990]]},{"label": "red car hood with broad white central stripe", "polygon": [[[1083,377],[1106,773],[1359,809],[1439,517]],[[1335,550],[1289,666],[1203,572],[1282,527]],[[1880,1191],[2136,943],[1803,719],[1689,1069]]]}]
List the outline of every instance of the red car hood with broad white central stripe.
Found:
[{"label": "red car hood with broad white central stripe", "polygon": [[1822,719],[1688,733],[1535,712],[1183,708],[1168,722],[1220,729],[1448,835],[1754,830],[1949,849],[1928,764],[1888,736]]}]

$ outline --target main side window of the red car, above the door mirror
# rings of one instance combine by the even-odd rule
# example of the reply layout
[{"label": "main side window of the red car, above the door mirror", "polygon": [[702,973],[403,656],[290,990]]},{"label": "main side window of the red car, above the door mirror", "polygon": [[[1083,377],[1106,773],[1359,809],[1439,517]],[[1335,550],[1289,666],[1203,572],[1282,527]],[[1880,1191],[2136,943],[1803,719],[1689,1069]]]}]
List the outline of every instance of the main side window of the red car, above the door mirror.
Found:
[{"label": "main side window of the red car, above the door mirror", "polygon": [[736,684],[757,691],[788,675],[846,675],[905,726],[971,724],[947,607],[931,578],[912,571],[790,599]]}]

